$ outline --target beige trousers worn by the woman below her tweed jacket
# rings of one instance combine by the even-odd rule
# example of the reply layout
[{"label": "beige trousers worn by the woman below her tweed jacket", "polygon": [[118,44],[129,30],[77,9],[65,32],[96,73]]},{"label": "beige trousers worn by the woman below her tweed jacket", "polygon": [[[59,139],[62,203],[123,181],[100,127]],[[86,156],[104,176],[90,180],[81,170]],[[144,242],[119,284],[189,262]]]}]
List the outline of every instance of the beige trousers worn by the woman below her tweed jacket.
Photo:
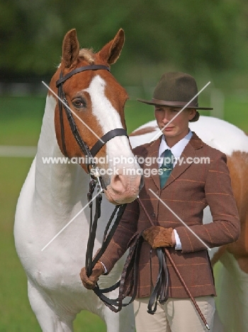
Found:
[{"label": "beige trousers worn by the woman below her tweed jacket", "polygon": [[[214,297],[196,297],[195,299],[210,326],[210,331],[213,331]],[[147,313],[148,301],[147,297],[134,301],[137,332],[208,331],[190,299],[169,298],[165,304],[158,303],[154,315]]]}]

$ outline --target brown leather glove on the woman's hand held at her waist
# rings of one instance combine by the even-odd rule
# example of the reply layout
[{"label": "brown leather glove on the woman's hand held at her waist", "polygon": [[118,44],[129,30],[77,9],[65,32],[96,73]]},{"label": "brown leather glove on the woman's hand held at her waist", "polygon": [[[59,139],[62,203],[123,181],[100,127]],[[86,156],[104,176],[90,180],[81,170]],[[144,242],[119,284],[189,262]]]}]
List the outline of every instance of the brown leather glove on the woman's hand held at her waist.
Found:
[{"label": "brown leather glove on the woman's hand held at her waist", "polygon": [[143,238],[152,246],[153,249],[160,247],[174,247],[171,240],[173,228],[152,226],[143,231]]}]

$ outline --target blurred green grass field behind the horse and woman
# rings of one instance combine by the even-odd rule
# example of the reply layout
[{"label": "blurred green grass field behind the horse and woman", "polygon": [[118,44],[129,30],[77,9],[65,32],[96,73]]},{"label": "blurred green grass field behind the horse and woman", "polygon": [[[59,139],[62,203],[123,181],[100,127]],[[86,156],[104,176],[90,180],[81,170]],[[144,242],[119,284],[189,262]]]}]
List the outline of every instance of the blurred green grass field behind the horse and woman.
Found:
[{"label": "blurred green grass field behind the horse and woman", "polygon": [[[45,96],[0,97],[0,145],[37,145],[44,106]],[[128,101],[125,116],[130,133],[154,118],[153,108]],[[248,132],[247,101],[227,96],[225,119]],[[30,158],[0,157],[0,332],[40,332],[28,302],[26,275],[13,243],[16,201],[31,161]],[[106,331],[98,316],[83,311],[74,327],[76,332]]]}]

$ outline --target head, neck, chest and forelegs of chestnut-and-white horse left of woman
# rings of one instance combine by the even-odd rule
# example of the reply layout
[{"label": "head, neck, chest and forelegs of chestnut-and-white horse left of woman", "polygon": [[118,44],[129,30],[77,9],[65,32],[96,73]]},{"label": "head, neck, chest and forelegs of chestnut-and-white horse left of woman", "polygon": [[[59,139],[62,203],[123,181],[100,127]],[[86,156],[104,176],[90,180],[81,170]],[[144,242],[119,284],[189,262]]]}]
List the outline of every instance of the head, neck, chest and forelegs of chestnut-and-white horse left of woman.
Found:
[{"label": "head, neck, chest and forelegs of chestnut-and-white horse left of woman", "polygon": [[[62,62],[50,82],[54,94],[61,72],[62,77],[67,77],[78,68],[97,66],[97,70],[90,67],[77,72],[62,84],[75,126],[89,149],[106,133],[115,128],[125,129],[124,105],[128,95],[108,71],[118,59],[123,43],[122,29],[97,53],[79,50],[75,30],[64,37]],[[30,305],[40,327],[47,332],[73,331],[75,316],[83,309],[100,316],[108,332],[135,331],[132,306],[115,314],[81,284],[79,272],[85,265],[89,238],[89,174],[84,162],[44,163],[45,157],[64,157],[64,150],[69,158],[85,157],[72,134],[69,125],[72,119],[63,110],[61,120],[58,99],[52,92],[47,94],[38,152],[18,199],[14,225],[16,250],[28,277]],[[118,167],[118,174],[107,172],[114,168],[113,157],[120,155],[135,160],[125,135],[111,138],[96,153],[97,166],[106,171],[101,172],[106,190],[95,253],[101,246],[113,204],[133,201],[140,190],[141,176],[123,172],[124,166],[140,170],[137,163]],[[117,282],[122,268],[120,261],[108,277],[100,278],[99,286],[106,288]],[[115,298],[116,294],[112,296]]]}]

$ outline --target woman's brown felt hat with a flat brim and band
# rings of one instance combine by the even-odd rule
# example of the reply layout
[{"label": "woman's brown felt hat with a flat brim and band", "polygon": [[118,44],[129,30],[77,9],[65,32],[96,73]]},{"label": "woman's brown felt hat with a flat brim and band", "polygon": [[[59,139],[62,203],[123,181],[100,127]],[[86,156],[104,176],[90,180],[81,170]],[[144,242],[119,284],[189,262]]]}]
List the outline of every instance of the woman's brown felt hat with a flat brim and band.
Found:
[{"label": "woman's brown felt hat with a flat brim and band", "polygon": [[[145,104],[184,107],[198,94],[196,79],[184,72],[166,72],[154,89],[152,100],[137,99]],[[198,96],[188,104],[190,109],[212,109],[198,106]]]}]

